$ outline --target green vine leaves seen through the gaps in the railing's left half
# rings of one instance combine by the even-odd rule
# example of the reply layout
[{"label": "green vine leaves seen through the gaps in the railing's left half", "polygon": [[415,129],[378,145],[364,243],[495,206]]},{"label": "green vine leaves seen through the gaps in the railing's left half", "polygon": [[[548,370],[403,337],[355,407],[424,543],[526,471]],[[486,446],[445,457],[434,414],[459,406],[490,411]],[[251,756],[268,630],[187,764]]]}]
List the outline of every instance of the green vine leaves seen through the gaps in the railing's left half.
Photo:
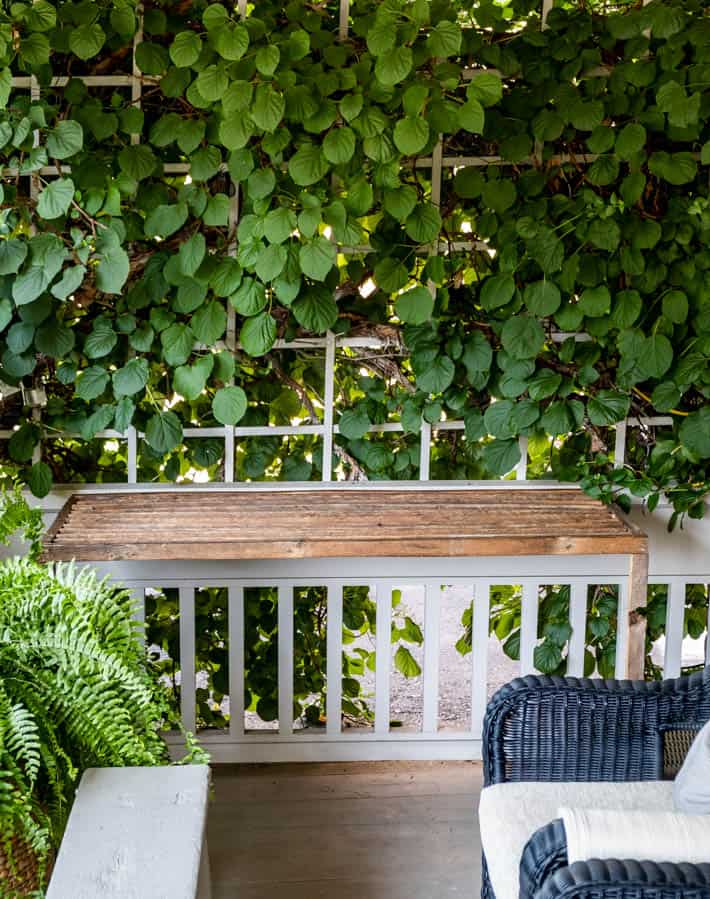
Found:
[{"label": "green vine leaves seen through the gaps in the railing's left half", "polygon": [[[399,590],[392,593],[391,641],[394,666],[404,677],[422,670],[407,644],[421,645],[419,625],[401,607]],[[179,600],[177,590],[148,591],[147,642],[154,664],[171,690],[173,708],[180,708]],[[203,588],[195,600],[195,659],[198,673],[197,723],[221,728],[229,711],[228,597],[225,588]],[[293,720],[318,725],[326,713],[327,593],[321,587],[301,588],[294,596]],[[372,696],[363,676],[375,670],[376,603],[367,587],[346,587],[343,594],[341,688],[343,720],[372,720]],[[263,721],[278,718],[278,591],[248,588],[244,595],[244,709]],[[230,698],[234,708],[234,697]]]}]

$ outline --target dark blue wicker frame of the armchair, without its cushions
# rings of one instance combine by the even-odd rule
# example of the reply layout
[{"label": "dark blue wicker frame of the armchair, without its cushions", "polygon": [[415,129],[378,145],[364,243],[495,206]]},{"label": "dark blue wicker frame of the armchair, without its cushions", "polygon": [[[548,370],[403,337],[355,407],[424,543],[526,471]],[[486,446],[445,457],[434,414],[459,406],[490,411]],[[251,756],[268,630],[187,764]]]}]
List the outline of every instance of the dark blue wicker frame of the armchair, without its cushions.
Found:
[{"label": "dark blue wicker frame of the armchair, without its cushions", "polygon": [[[708,720],[710,667],[650,683],[518,678],[496,693],[486,712],[484,784],[672,777]],[[495,899],[485,856],[482,873],[482,899]],[[521,860],[520,899],[681,896],[710,899],[710,864],[621,859],[568,865],[559,820],[533,835]]]}]

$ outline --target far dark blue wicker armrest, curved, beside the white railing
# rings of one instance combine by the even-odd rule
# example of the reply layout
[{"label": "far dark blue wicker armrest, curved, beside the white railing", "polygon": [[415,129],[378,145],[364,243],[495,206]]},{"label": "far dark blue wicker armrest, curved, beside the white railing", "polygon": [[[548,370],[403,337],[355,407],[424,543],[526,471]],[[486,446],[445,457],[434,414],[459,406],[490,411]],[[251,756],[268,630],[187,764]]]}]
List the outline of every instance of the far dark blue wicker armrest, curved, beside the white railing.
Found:
[{"label": "far dark blue wicker armrest, curved, beside the white railing", "polygon": [[483,724],[485,784],[663,776],[662,730],[710,719],[710,668],[675,680],[517,678]]}]

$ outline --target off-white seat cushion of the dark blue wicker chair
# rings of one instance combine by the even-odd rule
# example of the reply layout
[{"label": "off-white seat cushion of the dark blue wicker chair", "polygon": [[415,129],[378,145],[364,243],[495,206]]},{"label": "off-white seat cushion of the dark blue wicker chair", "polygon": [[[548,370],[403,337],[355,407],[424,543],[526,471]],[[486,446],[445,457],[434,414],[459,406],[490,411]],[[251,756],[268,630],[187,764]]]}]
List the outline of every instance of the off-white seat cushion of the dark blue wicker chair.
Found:
[{"label": "off-white seat cushion of the dark blue wicker chair", "polygon": [[496,899],[518,899],[520,858],[530,837],[560,806],[673,811],[672,781],[494,784],[481,792],[481,845]]}]

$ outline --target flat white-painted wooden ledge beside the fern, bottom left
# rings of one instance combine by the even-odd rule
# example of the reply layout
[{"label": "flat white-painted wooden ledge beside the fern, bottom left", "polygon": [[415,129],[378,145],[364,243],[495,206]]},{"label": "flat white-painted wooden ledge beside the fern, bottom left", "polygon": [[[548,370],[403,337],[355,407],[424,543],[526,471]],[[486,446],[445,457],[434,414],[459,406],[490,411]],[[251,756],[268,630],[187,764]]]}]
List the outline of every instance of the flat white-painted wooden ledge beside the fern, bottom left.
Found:
[{"label": "flat white-painted wooden ledge beside the fern, bottom left", "polygon": [[209,768],[92,768],[47,899],[210,899]]}]

